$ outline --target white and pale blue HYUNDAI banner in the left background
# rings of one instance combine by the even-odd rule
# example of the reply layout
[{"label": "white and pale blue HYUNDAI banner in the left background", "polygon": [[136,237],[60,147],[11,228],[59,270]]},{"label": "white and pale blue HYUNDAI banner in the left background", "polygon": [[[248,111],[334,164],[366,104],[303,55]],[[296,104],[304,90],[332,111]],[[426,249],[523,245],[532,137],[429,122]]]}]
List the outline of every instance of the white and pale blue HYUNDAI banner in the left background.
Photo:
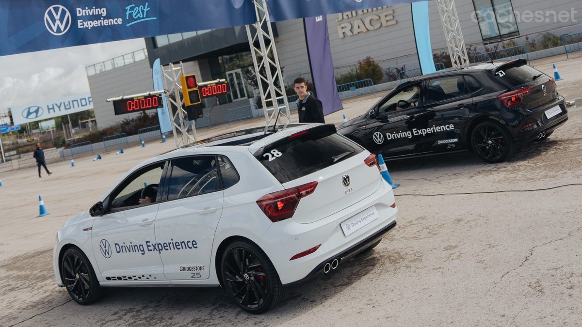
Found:
[{"label": "white and pale blue HYUNDAI banner in the left background", "polygon": [[37,120],[54,118],[67,113],[93,109],[91,93],[70,95],[58,99],[35,102],[33,104],[13,106],[10,108],[15,125],[22,125]]}]

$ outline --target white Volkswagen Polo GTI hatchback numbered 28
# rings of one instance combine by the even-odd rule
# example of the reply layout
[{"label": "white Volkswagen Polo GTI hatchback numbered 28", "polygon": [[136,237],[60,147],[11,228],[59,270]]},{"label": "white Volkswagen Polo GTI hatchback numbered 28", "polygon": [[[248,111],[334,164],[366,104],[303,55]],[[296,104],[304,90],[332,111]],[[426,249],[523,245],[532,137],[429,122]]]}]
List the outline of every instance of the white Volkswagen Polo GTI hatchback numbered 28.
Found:
[{"label": "white Volkswagen Polo GTI hatchback numbered 28", "polygon": [[375,155],[333,125],[244,130],[127,172],[59,230],[55,276],[79,304],[113,286],[222,286],[260,313],[376,246],[397,211]]}]

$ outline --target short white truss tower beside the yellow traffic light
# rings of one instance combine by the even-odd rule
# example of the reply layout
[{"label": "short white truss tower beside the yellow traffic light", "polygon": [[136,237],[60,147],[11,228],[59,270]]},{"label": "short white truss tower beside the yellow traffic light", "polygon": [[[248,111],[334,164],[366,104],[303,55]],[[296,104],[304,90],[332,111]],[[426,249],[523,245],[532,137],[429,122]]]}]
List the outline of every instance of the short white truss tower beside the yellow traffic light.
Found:
[{"label": "short white truss tower beside the yellow traffic light", "polygon": [[[172,131],[174,133],[174,140],[176,141],[176,147],[180,145],[186,145],[197,141],[196,137],[196,125],[192,125],[192,131],[194,137],[188,134],[189,126],[186,125],[186,111],[182,108],[184,104],[183,97],[180,96],[180,90],[182,90],[182,83],[180,83],[180,76],[184,74],[184,66],[180,61],[180,66],[174,67],[172,63],[166,68],[164,66],[160,67],[162,74],[164,75],[164,86],[166,90],[166,101],[172,102],[178,108],[175,115],[172,116]],[[169,97],[170,94],[174,94],[175,101]],[[168,111],[172,112],[171,105],[168,104]],[[179,118],[180,125],[176,123],[176,118]],[[180,138],[178,135],[178,130],[180,130]]]}]

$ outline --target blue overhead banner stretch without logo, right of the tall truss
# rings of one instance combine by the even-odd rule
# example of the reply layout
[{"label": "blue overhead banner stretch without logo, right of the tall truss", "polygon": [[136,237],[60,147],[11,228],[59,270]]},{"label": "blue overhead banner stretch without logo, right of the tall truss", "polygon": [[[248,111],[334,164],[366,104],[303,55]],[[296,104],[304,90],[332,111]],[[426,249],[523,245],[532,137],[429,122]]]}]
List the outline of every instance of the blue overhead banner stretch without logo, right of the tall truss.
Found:
[{"label": "blue overhead banner stretch without logo, right of the tall truss", "polygon": [[331,15],[383,6],[402,5],[422,0],[264,0],[272,22],[296,18]]}]

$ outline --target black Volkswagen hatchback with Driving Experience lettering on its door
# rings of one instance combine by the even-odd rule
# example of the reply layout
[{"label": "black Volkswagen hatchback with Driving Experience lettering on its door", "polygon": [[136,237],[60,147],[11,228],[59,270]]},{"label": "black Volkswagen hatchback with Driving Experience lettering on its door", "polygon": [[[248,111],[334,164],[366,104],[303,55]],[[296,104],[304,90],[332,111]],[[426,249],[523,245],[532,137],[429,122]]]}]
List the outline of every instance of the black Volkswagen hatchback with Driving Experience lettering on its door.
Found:
[{"label": "black Volkswagen hatchback with Driving Experience lettering on its door", "polygon": [[496,163],[567,119],[553,78],[520,59],[417,77],[337,129],[385,158],[469,150]]}]

